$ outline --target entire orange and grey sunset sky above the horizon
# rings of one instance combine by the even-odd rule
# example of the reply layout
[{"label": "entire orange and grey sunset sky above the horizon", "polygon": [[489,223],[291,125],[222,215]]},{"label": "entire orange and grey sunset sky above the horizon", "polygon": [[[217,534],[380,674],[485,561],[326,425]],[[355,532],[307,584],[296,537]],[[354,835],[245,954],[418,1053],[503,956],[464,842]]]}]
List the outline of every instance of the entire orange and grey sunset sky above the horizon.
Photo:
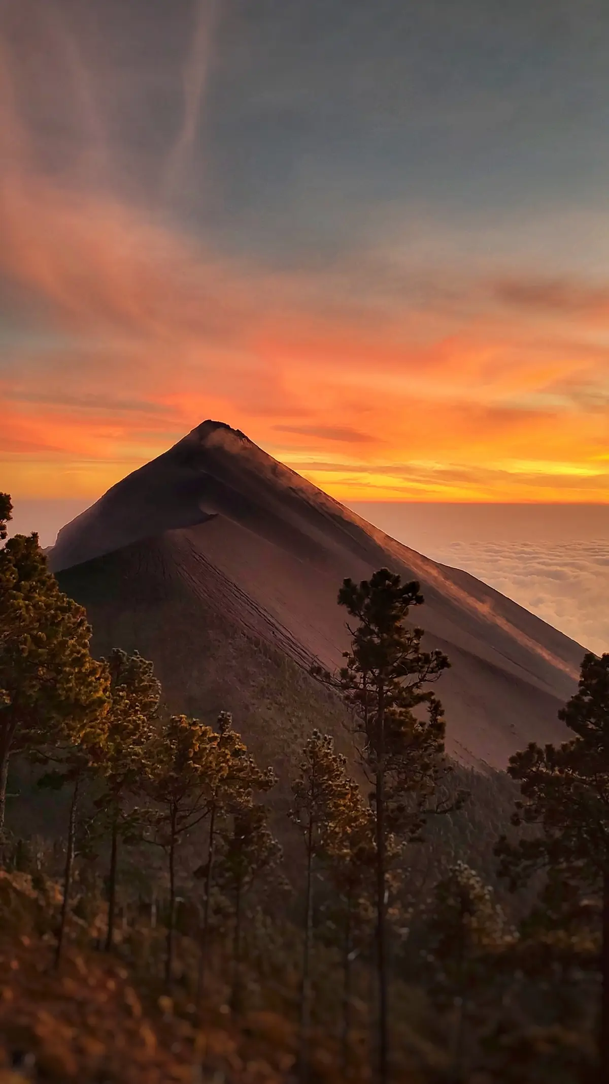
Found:
[{"label": "entire orange and grey sunset sky above the horizon", "polygon": [[606,0],[0,0],[0,488],[609,500]]}]

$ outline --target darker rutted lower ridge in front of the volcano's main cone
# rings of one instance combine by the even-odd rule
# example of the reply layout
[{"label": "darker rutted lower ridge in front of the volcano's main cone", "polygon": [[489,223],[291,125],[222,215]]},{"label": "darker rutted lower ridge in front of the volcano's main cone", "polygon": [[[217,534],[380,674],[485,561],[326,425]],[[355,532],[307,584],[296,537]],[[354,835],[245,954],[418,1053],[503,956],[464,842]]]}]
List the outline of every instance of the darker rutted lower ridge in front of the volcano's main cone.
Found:
[{"label": "darker rutted lower ridge in front of the volcano's main cone", "polygon": [[87,606],[95,655],[119,646],[154,659],[172,711],[208,723],[221,710],[233,712],[252,751],[281,780],[321,721],[353,757],[346,711],[309,676],[300,645],[209,563],[197,568],[193,590],[167,540],[155,540],[67,569],[58,580]]}]

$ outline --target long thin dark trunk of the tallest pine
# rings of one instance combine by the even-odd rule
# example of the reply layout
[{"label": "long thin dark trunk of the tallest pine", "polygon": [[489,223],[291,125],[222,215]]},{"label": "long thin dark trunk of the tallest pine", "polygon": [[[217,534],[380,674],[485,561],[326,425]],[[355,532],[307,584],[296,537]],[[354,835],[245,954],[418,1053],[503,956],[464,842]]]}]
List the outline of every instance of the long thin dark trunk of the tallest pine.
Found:
[{"label": "long thin dark trunk of the tallest pine", "polygon": [[388,1081],[387,922],[385,869],[385,705],[379,686],[376,714],[376,980],[379,990],[378,1059],[379,1084]]}]

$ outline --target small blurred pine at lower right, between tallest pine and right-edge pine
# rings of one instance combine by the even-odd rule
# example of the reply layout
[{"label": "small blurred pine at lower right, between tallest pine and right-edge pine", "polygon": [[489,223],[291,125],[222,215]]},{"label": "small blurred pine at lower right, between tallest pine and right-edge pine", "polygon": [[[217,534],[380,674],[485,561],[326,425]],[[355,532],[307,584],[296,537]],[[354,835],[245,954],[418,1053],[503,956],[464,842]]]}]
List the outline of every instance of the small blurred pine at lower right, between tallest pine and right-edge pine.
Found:
[{"label": "small blurred pine at lower right, between tallest pine and right-edge pine", "polygon": [[516,940],[492,890],[463,862],[436,885],[427,914],[431,992],[438,1008],[454,1008],[452,1075],[466,1080],[472,1014],[500,977],[498,959]]}]

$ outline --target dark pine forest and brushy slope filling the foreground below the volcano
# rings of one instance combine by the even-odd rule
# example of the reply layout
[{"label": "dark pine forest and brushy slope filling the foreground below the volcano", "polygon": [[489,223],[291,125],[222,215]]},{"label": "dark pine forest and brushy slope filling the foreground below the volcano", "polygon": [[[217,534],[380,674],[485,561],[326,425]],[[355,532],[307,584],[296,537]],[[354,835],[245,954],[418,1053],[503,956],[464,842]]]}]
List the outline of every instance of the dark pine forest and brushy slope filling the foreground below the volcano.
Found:
[{"label": "dark pine forest and brushy slope filling the foreground below the volcano", "polygon": [[[609,654],[567,738],[507,772],[445,752],[414,582],[336,585],[278,779],[240,722],[172,714],[0,494],[0,1082],[609,1084]],[[194,650],[196,645],[194,645]]]}]

